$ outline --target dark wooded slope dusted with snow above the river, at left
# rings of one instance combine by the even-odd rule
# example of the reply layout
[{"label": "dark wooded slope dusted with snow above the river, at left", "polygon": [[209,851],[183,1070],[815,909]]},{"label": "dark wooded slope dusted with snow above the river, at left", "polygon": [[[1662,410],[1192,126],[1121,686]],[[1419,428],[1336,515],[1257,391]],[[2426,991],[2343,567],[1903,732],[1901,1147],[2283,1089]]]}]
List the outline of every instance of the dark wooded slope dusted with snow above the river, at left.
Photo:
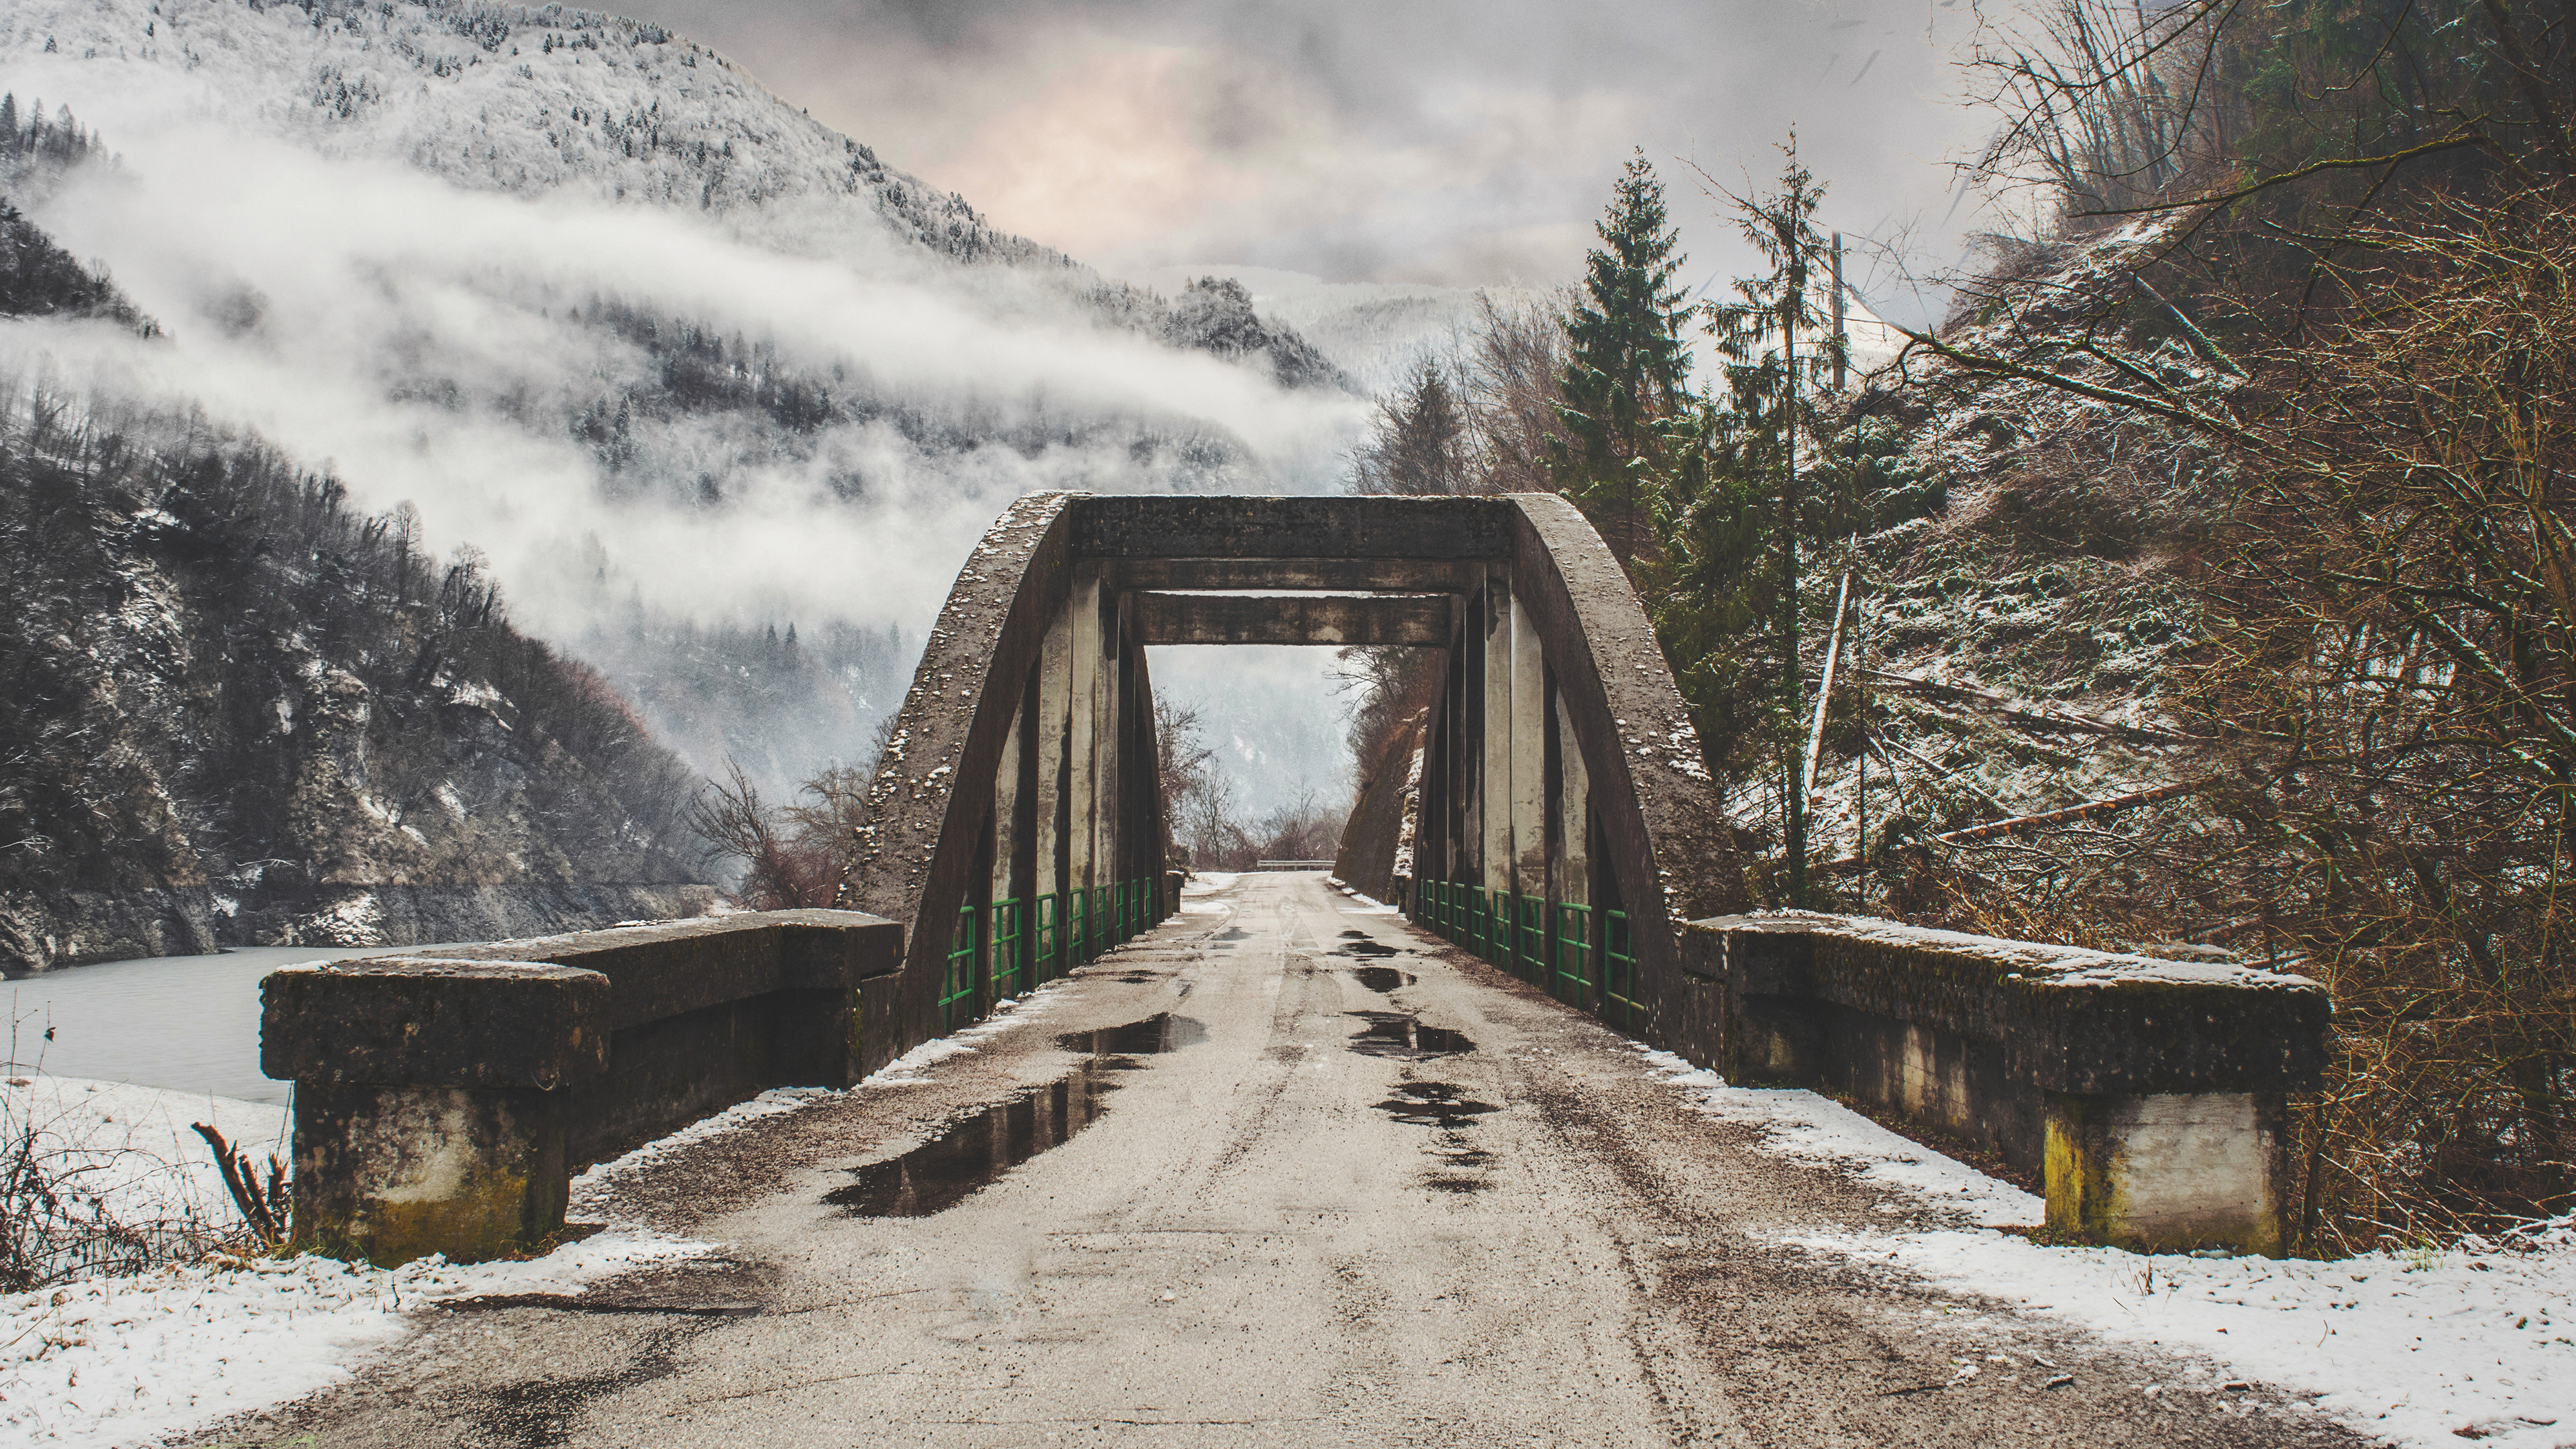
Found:
[{"label": "dark wooded slope dusted with snow above the river, at left", "polygon": [[696,776],[474,554],[258,441],[0,387],[0,969],[703,908]]}]

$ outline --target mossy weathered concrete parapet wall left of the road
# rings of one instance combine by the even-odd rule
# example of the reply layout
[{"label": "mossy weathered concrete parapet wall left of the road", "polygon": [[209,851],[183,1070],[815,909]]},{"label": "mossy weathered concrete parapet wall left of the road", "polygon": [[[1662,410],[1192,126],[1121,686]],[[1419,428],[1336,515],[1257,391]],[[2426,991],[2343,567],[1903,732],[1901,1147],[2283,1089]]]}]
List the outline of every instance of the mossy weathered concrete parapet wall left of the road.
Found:
[{"label": "mossy weathered concrete parapet wall left of the road", "polygon": [[294,1235],[379,1263],[541,1243],[590,1163],[889,1062],[902,959],[891,920],[770,910],[273,972]]}]

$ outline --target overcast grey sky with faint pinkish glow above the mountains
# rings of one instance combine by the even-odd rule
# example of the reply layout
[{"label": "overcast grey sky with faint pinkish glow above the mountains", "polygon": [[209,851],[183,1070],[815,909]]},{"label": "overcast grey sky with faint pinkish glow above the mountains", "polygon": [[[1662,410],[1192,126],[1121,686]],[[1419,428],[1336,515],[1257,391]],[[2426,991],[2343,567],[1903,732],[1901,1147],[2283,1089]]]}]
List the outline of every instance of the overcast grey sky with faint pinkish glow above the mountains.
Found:
[{"label": "overcast grey sky with faint pinkish glow above the mountains", "polygon": [[[1798,144],[1826,222],[1947,240],[1950,98],[1976,0],[623,0],[1118,276],[1574,281],[1631,147],[1672,191],[1692,286],[1741,188]],[[1873,294],[1886,291],[1880,278]]]}]

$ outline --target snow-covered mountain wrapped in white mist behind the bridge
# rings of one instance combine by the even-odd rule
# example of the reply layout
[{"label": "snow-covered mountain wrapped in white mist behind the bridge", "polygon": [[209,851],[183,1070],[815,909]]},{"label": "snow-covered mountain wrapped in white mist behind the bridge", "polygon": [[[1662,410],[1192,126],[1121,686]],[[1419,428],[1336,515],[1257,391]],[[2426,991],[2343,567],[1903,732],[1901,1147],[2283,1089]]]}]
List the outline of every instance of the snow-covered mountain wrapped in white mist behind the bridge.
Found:
[{"label": "snow-covered mountain wrapped in white mist behind the bridge", "polygon": [[1010,495],[1324,490],[1365,420],[1239,286],[997,232],[647,23],[21,0],[0,90],[118,152],[18,206],[165,330],[10,322],[0,371],[410,503],[696,766],[775,792],[860,758],[912,660],[742,642],[920,639]]}]

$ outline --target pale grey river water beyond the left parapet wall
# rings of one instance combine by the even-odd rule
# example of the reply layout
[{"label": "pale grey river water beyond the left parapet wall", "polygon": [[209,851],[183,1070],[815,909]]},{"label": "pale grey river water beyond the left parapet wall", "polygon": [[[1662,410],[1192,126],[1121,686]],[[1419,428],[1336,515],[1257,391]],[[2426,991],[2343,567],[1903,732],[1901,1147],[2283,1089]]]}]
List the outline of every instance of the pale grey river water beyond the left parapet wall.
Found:
[{"label": "pale grey river water beyond the left parapet wall", "polygon": [[8,1013],[0,1047],[10,1075],[98,1078],[283,1106],[289,1083],[260,1075],[260,977],[296,962],[384,954],[392,951],[242,946],[0,980],[0,1011]]}]

